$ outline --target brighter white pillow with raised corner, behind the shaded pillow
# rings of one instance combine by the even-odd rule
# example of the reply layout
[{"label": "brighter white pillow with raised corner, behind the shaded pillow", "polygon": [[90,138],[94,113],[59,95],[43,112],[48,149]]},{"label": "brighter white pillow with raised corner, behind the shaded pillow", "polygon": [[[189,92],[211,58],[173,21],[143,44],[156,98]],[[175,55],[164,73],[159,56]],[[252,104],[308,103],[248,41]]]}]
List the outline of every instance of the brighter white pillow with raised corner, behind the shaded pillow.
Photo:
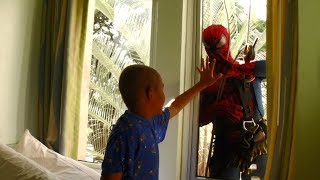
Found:
[{"label": "brighter white pillow with raised corner, behind the shaded pillow", "polygon": [[100,174],[95,170],[48,149],[34,138],[29,130],[25,130],[16,150],[46,168],[60,179],[100,179]]}]

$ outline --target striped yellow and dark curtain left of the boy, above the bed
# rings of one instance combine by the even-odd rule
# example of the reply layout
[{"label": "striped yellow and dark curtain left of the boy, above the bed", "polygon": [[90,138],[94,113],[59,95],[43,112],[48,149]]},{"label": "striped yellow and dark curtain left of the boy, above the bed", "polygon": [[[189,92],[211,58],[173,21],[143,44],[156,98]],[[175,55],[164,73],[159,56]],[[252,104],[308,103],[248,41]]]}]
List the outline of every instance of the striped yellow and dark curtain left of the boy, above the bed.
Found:
[{"label": "striped yellow and dark curtain left of the boy, above the bed", "polygon": [[76,158],[88,0],[44,0],[43,5],[39,139]]}]

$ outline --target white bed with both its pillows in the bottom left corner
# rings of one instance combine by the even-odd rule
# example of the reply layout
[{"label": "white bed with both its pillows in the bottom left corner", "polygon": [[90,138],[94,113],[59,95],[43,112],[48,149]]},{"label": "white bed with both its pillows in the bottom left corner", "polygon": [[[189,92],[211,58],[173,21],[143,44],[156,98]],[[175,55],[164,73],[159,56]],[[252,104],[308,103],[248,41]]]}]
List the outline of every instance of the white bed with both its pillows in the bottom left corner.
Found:
[{"label": "white bed with both its pillows in the bottom left corner", "polygon": [[2,180],[98,180],[94,169],[48,149],[26,130],[15,150],[0,142]]}]

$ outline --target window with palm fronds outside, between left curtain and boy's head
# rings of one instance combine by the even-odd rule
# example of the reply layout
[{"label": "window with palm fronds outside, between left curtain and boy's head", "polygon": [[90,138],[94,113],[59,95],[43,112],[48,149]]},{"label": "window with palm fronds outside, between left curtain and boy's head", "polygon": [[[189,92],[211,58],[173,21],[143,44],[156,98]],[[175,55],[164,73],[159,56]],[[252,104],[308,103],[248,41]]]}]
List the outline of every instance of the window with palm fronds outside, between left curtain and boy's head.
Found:
[{"label": "window with palm fronds outside, between left curtain and boy's head", "polygon": [[126,109],[118,89],[121,71],[149,65],[151,0],[96,0],[86,161],[102,162],[112,125]]}]

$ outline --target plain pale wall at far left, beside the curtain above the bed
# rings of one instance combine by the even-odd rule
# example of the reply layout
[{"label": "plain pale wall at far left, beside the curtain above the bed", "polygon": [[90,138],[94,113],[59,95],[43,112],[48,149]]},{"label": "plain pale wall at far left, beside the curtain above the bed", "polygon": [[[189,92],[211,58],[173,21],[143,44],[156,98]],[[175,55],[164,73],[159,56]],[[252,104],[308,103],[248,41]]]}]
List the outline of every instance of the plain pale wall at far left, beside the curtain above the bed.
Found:
[{"label": "plain pale wall at far left, beside the curtain above the bed", "polygon": [[0,0],[0,141],[36,132],[42,1]]}]

